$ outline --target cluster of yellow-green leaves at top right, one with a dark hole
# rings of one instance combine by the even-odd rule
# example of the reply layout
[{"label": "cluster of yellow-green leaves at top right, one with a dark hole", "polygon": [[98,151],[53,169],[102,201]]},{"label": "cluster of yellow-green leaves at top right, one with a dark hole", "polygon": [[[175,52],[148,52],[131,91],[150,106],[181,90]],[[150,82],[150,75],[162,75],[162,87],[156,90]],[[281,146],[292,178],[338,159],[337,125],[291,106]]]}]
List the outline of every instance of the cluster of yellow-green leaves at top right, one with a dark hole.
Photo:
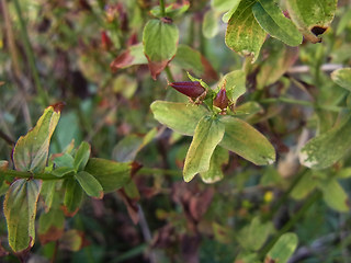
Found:
[{"label": "cluster of yellow-green leaves at top right, one with a dark hole", "polygon": [[333,19],[337,0],[287,0],[286,7],[291,20],[285,18],[274,0],[234,1],[231,10],[225,15],[227,19],[230,16],[226,32],[227,46],[251,57],[254,62],[267,33],[290,46],[299,45],[302,34],[313,43],[320,42],[319,35]]}]

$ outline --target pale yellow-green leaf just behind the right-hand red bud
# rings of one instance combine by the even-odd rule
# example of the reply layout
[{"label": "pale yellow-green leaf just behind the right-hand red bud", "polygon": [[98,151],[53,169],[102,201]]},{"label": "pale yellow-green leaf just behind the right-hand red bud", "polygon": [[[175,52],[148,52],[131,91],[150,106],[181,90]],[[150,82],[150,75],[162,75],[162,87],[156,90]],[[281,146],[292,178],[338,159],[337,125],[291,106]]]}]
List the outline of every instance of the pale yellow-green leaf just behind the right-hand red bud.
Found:
[{"label": "pale yellow-green leaf just behind the right-hand red bud", "polygon": [[240,95],[246,92],[246,76],[242,70],[234,70],[226,73],[217,85],[217,92],[225,84],[227,96],[234,103],[238,100]]}]

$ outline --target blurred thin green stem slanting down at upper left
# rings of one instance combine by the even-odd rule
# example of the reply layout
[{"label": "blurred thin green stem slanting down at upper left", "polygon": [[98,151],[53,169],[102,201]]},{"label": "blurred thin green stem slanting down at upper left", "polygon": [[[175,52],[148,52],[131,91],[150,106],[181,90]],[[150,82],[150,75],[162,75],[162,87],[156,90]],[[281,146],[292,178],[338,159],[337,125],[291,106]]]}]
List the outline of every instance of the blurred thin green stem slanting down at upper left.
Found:
[{"label": "blurred thin green stem slanting down at upper left", "polygon": [[37,91],[37,93],[38,93],[38,95],[41,98],[41,101],[42,101],[43,105],[47,106],[49,104],[49,102],[48,102],[49,100],[48,100],[46,91],[42,87],[41,79],[39,79],[39,73],[38,73],[37,68],[35,66],[34,53],[33,53],[33,49],[32,49],[32,46],[31,46],[31,43],[30,43],[30,38],[29,38],[29,35],[27,35],[25,23],[24,23],[23,16],[22,16],[21,5],[19,3],[19,0],[13,0],[13,3],[14,3],[15,12],[16,12],[16,14],[19,16],[22,41],[23,41],[23,44],[24,44],[24,50],[25,50],[25,54],[26,54],[29,62],[30,62],[30,67],[31,67],[31,70],[32,70],[32,75],[33,75],[33,79],[34,79],[34,82],[35,82],[36,91]]}]

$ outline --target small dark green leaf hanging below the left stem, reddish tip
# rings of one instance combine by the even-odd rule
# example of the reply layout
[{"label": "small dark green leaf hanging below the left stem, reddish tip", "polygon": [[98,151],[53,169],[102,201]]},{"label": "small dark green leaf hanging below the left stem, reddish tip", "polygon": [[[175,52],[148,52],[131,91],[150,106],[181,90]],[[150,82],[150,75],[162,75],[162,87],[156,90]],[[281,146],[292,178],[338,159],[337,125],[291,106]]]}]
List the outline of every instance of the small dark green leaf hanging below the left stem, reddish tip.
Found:
[{"label": "small dark green leaf hanging below the left stem, reddish tip", "polygon": [[72,217],[79,210],[83,198],[83,191],[75,179],[66,179],[64,188],[64,213],[66,216]]}]

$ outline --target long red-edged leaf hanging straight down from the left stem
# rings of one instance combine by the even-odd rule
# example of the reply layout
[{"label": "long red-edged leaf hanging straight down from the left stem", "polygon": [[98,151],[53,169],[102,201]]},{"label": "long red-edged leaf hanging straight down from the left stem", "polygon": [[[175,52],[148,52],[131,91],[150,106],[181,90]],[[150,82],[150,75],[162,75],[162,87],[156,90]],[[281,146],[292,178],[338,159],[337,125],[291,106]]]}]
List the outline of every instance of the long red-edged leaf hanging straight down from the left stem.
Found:
[{"label": "long red-edged leaf hanging straight down from the left stem", "polygon": [[31,249],[35,241],[36,204],[42,181],[20,179],[14,181],[3,203],[8,224],[9,244],[19,253]]}]

